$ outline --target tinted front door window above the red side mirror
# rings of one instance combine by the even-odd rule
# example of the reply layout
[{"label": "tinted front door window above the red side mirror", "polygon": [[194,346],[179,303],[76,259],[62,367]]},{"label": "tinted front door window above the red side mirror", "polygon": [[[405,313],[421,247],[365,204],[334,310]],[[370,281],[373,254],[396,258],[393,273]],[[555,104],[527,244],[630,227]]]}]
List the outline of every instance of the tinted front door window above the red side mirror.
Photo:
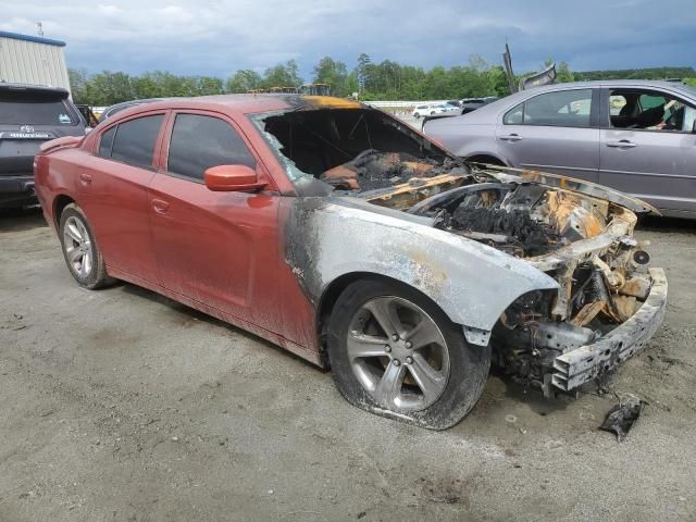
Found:
[{"label": "tinted front door window above the red side mirror", "polygon": [[237,132],[223,120],[199,114],[177,114],[172,130],[166,170],[202,179],[217,165],[256,167],[256,160]]}]

